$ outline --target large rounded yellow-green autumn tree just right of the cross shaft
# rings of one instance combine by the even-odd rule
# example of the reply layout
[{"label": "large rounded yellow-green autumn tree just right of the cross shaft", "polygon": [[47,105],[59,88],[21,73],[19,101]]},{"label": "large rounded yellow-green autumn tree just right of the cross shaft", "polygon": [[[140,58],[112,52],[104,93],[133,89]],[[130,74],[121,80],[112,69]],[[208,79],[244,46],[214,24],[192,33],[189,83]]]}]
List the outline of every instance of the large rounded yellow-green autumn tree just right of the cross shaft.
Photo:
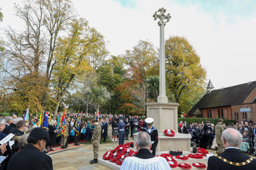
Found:
[{"label": "large rounded yellow-green autumn tree just right of the cross shaft", "polygon": [[172,100],[172,94],[169,94],[169,99],[180,103],[179,112],[187,113],[190,108],[184,101],[193,101],[202,94],[206,70],[185,37],[170,36],[165,41],[165,69],[166,86],[174,96]]}]

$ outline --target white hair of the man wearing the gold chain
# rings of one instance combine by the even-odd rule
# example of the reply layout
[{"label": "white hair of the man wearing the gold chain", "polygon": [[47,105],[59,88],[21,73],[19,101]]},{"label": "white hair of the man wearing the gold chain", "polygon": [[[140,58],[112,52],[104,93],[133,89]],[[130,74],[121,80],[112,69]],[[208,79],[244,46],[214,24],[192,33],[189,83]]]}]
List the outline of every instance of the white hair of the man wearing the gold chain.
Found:
[{"label": "white hair of the man wearing the gold chain", "polygon": [[224,138],[226,143],[230,146],[239,147],[242,144],[242,134],[233,128],[224,130],[222,132],[222,138]]}]

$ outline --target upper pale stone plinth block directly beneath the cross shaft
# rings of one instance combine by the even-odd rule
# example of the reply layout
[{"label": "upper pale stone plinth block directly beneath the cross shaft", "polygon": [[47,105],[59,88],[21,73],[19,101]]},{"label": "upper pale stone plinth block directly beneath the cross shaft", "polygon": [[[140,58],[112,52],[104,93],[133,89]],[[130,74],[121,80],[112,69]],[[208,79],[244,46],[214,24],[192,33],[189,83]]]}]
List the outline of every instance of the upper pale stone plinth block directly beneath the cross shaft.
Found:
[{"label": "upper pale stone plinth block directly beneath the cross shaft", "polygon": [[147,117],[154,119],[153,126],[158,133],[171,129],[178,133],[178,103],[146,103]]}]

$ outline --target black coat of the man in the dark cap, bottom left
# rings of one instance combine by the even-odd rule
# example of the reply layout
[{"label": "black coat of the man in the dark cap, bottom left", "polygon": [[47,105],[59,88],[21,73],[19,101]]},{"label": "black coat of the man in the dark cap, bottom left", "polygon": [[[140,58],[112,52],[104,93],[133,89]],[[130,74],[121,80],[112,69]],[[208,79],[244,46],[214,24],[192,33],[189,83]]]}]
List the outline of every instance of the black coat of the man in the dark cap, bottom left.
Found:
[{"label": "black coat of the man in the dark cap, bottom left", "polygon": [[49,155],[40,152],[35,146],[27,144],[11,157],[7,170],[14,169],[52,170],[52,159]]}]

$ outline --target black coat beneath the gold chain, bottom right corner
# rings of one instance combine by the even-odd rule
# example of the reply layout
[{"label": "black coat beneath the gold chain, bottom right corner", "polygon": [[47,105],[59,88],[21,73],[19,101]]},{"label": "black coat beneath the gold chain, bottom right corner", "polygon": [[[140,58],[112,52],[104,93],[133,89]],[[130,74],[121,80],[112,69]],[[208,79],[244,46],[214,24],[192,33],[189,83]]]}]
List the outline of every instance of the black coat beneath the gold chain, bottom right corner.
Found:
[{"label": "black coat beneath the gold chain, bottom right corner", "polygon": [[[218,155],[233,163],[242,163],[250,158],[250,156],[243,154],[242,151],[235,148],[226,149],[223,153],[220,153]],[[256,169],[256,159],[253,159],[252,162],[250,162],[249,164],[245,164],[243,166],[235,166],[235,165],[230,165],[227,162],[224,162],[222,159],[219,159],[218,157],[210,156],[208,159],[207,170],[216,170],[216,169],[218,170]]]}]

